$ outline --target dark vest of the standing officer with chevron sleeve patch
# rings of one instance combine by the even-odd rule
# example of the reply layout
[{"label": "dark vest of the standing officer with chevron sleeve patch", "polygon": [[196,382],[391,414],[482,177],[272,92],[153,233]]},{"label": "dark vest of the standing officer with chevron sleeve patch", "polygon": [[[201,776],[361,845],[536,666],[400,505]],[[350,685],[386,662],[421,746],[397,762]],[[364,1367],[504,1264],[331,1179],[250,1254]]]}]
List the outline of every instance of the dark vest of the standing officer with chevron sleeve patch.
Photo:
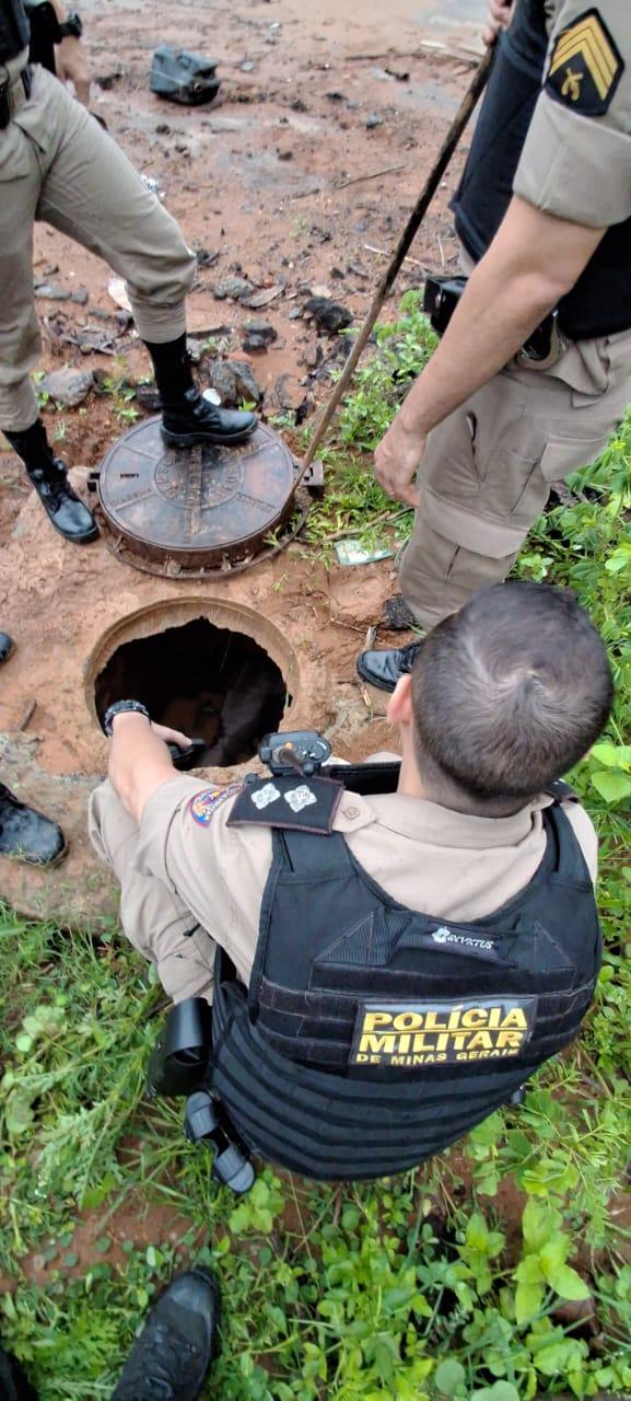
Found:
[{"label": "dark vest of the standing officer with chevron sleeve patch", "polygon": [[[519,157],[541,91],[547,48],[543,0],[519,0],[509,29],[499,38],[472,149],[452,202],[458,235],[476,262],[485,254],[512,198]],[[558,324],[572,340],[613,335],[631,326],[631,219],[607,230],[585,272],[562,297]]]}]

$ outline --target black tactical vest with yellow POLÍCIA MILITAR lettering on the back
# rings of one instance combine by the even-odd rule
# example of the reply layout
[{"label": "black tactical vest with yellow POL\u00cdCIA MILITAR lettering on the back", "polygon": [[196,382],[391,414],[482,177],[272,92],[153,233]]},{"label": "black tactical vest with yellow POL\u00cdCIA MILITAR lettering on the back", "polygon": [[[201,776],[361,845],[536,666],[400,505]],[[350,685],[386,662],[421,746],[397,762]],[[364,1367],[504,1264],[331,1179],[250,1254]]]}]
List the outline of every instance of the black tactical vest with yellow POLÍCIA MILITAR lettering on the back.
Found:
[{"label": "black tactical vest with yellow POL\u00cdCIA MILITAR lettering on the back", "polygon": [[305,1177],[402,1173],[574,1040],[600,930],[562,808],[544,824],[526,890],[467,925],[399,905],[337,832],[273,832],[249,992],[215,967],[211,1087],[248,1147]]}]

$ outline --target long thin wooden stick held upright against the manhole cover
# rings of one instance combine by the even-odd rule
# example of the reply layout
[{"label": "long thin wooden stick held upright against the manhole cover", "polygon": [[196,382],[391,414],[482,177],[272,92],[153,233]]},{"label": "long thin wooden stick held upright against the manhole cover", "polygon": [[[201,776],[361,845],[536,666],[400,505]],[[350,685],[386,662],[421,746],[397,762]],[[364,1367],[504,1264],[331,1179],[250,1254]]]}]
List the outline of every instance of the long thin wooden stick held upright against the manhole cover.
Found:
[{"label": "long thin wooden stick held upright against the manhole cover", "polygon": [[350,353],[350,356],[348,356],[347,361],[346,361],[346,366],[344,366],[344,368],[341,371],[341,375],[340,375],[340,378],[339,378],[339,381],[337,381],[337,384],[336,384],[336,387],[333,389],[333,394],[330,395],[330,399],[325,403],[325,408],[322,410],[320,419],[319,419],[319,422],[316,425],[316,430],[315,430],[313,437],[312,437],[312,440],[309,443],[309,447],[308,447],[308,451],[306,451],[306,457],[305,457],[305,460],[302,462],[302,467],[301,467],[301,471],[299,471],[299,474],[297,476],[294,490],[297,490],[297,488],[301,485],[302,478],[305,476],[305,472],[311,467],[311,464],[312,464],[312,461],[313,461],[313,458],[315,458],[315,455],[318,453],[318,448],[319,448],[319,446],[320,446],[320,443],[322,443],[322,440],[323,440],[323,437],[325,437],[325,434],[326,434],[326,432],[329,429],[329,425],[330,425],[330,422],[333,419],[333,415],[334,415],[334,412],[336,412],[340,401],[343,399],[343,396],[344,396],[344,394],[346,394],[346,391],[348,388],[348,384],[350,384],[350,381],[351,381],[351,378],[353,378],[353,375],[355,373],[360,356],[361,356],[361,353],[364,350],[364,346],[365,346],[365,343],[367,343],[367,340],[368,340],[368,338],[369,338],[369,335],[372,332],[372,328],[374,328],[375,321],[376,321],[376,318],[379,315],[379,311],[382,310],[383,303],[385,303],[389,291],[392,290],[392,286],[395,283],[395,277],[397,276],[397,273],[399,273],[399,270],[400,270],[400,268],[403,265],[403,259],[406,258],[407,252],[411,248],[411,244],[414,242],[414,238],[416,238],[416,235],[417,235],[417,233],[418,233],[418,230],[421,227],[421,223],[423,223],[423,219],[424,219],[424,216],[427,213],[427,209],[428,209],[428,206],[430,206],[430,203],[431,203],[431,200],[432,200],[432,198],[434,198],[434,195],[435,195],[435,192],[438,189],[438,185],[439,185],[439,182],[441,182],[441,179],[442,179],[442,177],[444,177],[448,165],[449,165],[449,161],[451,161],[451,158],[453,156],[453,151],[456,150],[456,146],[458,146],[458,143],[460,140],[460,136],[462,136],[462,133],[463,133],[467,122],[469,122],[469,118],[472,116],[472,112],[473,112],[473,109],[474,109],[474,106],[476,106],[476,104],[477,104],[481,92],[484,91],[484,87],[485,87],[487,78],[488,78],[488,73],[490,73],[490,69],[491,69],[491,63],[492,63],[492,45],[487,49],[484,57],[481,59],[481,62],[478,63],[478,66],[476,69],[476,73],[473,76],[473,81],[472,81],[467,92],[465,94],[465,97],[463,97],[463,99],[460,102],[460,106],[459,106],[459,109],[456,112],[456,116],[453,118],[453,122],[452,122],[452,125],[451,125],[451,127],[449,127],[449,130],[448,130],[448,133],[445,136],[445,140],[444,140],[444,143],[441,146],[441,150],[439,150],[439,153],[437,156],[437,160],[435,160],[435,163],[434,163],[434,165],[432,165],[432,168],[430,171],[430,175],[427,177],[427,181],[425,181],[425,184],[423,186],[423,191],[421,191],[421,193],[420,193],[420,196],[418,196],[418,199],[417,199],[417,202],[414,205],[414,209],[413,209],[413,212],[410,214],[410,219],[407,220],[407,224],[406,224],[406,227],[404,227],[404,230],[402,233],[402,237],[400,237],[400,240],[399,240],[399,242],[397,242],[397,245],[395,248],[395,252],[393,252],[393,255],[390,258],[390,262],[389,262],[389,265],[388,265],[388,268],[386,268],[386,270],[385,270],[385,273],[383,273],[383,276],[381,279],[381,283],[379,283],[379,286],[378,286],[378,289],[375,291],[375,296],[374,296],[374,298],[371,301],[371,305],[369,305],[369,310],[367,312],[365,321],[364,321],[364,324],[362,324],[362,326],[360,329],[357,340],[354,340],[354,343],[353,343],[351,353]]}]

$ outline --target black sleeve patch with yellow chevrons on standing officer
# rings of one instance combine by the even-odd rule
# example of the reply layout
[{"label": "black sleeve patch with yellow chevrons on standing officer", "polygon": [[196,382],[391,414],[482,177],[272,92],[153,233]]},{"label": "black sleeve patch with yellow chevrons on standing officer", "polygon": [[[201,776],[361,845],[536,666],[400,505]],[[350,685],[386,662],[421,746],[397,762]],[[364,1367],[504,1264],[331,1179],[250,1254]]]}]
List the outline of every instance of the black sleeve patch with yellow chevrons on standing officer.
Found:
[{"label": "black sleeve patch with yellow chevrons on standing officer", "polygon": [[604,20],[597,10],[585,10],[557,38],[546,91],[582,116],[603,116],[623,73],[624,59]]}]

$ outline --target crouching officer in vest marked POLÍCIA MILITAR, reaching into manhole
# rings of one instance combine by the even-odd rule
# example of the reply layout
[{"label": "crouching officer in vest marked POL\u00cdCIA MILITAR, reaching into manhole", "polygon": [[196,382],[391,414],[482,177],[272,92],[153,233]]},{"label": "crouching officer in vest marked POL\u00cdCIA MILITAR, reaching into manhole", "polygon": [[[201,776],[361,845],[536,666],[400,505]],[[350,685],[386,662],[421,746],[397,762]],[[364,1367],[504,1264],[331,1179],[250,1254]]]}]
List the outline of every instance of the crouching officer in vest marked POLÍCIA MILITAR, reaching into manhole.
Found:
[{"label": "crouching officer in vest marked POL\u00cdCIA MILITAR, reaching into manhole", "polygon": [[[221,787],[173,772],[172,731],[133,698],[112,706],[90,832],[178,1003],[179,1070],[154,1089],[203,1079],[249,1149],[347,1180],[403,1171],[518,1096],[596,984],[596,835],[560,775],[611,699],[574,594],[509,581],[399,679],[400,765]],[[180,1037],[196,1009],[206,1069]]]}]

